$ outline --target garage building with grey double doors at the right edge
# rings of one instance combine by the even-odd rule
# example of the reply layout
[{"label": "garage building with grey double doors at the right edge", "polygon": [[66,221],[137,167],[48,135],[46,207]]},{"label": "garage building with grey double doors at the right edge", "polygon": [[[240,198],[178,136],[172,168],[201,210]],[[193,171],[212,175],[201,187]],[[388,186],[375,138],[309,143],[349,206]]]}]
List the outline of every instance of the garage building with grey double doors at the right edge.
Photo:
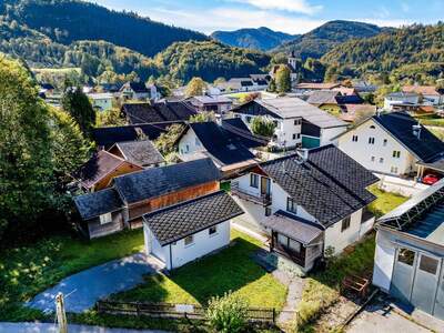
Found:
[{"label": "garage building with grey double doors at the right edge", "polygon": [[444,181],[376,223],[373,284],[444,320]]}]

